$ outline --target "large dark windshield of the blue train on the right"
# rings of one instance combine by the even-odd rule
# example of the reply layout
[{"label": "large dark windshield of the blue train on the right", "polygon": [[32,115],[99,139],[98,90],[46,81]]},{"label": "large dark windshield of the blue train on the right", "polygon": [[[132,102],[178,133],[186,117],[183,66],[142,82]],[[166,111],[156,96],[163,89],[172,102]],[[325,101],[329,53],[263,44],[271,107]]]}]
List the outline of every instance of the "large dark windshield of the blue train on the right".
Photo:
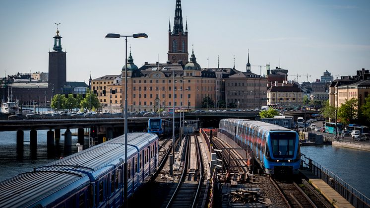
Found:
[{"label": "large dark windshield of the blue train on the right", "polygon": [[296,143],[296,133],[270,133],[272,153],[274,157],[293,157]]}]

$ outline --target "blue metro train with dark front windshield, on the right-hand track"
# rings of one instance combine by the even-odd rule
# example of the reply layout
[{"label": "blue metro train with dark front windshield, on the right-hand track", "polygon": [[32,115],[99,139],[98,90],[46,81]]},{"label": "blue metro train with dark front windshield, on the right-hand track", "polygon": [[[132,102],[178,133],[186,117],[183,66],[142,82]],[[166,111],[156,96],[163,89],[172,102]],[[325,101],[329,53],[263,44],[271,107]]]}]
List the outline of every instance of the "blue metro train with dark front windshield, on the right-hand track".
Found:
[{"label": "blue metro train with dark front windshield, on the right-hand track", "polygon": [[249,148],[265,173],[299,173],[301,151],[297,132],[246,119],[222,119],[219,132],[234,139],[240,147]]}]

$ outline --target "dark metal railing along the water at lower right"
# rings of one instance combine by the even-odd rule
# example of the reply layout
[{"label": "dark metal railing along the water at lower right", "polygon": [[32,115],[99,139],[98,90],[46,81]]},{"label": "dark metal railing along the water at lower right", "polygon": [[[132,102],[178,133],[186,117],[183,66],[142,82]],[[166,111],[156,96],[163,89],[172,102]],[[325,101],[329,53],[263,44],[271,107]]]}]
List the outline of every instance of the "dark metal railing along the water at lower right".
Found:
[{"label": "dark metal railing along the water at lower right", "polygon": [[369,208],[370,199],[357,191],[351,185],[347,184],[337,175],[321,166],[312,159],[306,157],[305,154],[301,156],[303,168],[308,169],[321,180],[325,181],[331,188],[338,192],[344,199],[351,203],[356,208]]}]

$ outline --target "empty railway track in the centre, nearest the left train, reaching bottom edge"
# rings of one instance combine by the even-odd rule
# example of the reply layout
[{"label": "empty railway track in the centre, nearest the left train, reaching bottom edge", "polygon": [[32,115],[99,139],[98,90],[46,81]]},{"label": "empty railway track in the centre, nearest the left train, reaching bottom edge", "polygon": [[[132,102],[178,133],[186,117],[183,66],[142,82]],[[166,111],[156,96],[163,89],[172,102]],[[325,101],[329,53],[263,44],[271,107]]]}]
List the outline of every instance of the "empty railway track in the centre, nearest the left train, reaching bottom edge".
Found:
[{"label": "empty railway track in the centre, nearest the left train, reaching bottom edge", "polygon": [[203,163],[198,139],[190,136],[186,142],[185,165],[178,186],[166,208],[196,207],[203,181]]}]

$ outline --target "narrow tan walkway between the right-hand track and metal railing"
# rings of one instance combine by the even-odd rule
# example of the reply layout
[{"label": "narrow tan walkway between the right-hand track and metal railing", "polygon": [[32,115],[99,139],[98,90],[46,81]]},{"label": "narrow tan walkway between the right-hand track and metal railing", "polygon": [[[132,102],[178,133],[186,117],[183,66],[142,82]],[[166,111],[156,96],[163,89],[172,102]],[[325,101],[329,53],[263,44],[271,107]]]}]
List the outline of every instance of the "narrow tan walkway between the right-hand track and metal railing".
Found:
[{"label": "narrow tan walkway between the right-hand track and metal railing", "polygon": [[354,208],[346,199],[344,199],[338,192],[332,189],[327,183],[315,176],[312,172],[307,170],[300,170],[303,175],[305,175],[312,186],[319,190],[319,192],[324,196],[330,203],[333,204],[335,208]]}]

